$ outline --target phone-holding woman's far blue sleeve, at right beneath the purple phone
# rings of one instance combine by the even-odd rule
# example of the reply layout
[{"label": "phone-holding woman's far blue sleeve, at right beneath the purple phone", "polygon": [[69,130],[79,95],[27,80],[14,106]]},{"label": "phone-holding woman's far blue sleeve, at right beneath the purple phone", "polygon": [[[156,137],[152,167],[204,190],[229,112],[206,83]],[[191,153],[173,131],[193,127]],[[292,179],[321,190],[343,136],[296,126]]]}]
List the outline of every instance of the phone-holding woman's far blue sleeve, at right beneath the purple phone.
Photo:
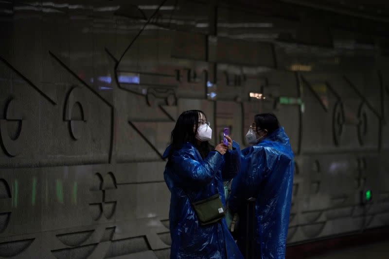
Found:
[{"label": "phone-holding woman's far blue sleeve, at right beneath the purple phone", "polygon": [[228,150],[224,154],[223,181],[234,178],[240,172],[240,164],[240,146],[235,141],[232,141],[232,150]]}]

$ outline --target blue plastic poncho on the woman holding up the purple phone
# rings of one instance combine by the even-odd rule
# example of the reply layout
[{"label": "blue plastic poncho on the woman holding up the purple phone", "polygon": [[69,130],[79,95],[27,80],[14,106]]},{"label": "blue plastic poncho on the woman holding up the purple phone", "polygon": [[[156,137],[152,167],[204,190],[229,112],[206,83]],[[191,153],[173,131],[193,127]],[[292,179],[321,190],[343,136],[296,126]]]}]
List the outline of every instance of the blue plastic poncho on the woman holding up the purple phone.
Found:
[{"label": "blue plastic poncho on the woman holding up the purple phone", "polygon": [[[169,150],[170,147],[164,157],[168,156]],[[201,226],[191,205],[191,200],[206,199],[218,192],[225,206],[223,180],[236,176],[240,162],[240,148],[235,142],[233,150],[224,156],[211,151],[204,160],[190,143],[173,152],[164,172],[171,192],[171,259],[243,259],[225,219]]]}]

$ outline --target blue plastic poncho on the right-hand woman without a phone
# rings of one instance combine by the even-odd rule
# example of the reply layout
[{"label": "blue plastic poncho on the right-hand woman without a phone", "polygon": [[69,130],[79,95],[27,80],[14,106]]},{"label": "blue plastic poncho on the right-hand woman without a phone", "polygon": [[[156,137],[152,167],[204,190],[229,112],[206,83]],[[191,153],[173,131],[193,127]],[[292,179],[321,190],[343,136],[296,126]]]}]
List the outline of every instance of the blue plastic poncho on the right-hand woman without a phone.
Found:
[{"label": "blue plastic poncho on the right-hand woman without a phone", "polygon": [[[238,246],[244,249],[247,199],[254,205],[255,251],[259,259],[285,258],[293,187],[293,152],[283,128],[242,150],[241,173],[232,180],[229,208],[238,212]],[[241,250],[244,251],[244,250]]]}]

